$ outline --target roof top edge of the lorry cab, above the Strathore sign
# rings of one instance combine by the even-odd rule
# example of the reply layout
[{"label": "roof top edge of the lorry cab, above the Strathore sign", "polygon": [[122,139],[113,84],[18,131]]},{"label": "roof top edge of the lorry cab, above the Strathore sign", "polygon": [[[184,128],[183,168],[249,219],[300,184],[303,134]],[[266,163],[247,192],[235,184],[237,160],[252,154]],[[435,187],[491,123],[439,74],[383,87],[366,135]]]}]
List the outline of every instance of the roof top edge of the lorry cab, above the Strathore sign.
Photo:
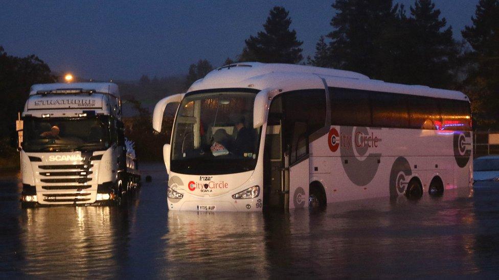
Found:
[{"label": "roof top edge of the lorry cab, above the Strathore sign", "polygon": [[31,86],[30,95],[35,95],[39,91],[64,90],[64,89],[81,89],[95,90],[96,92],[110,93],[116,97],[120,97],[118,85],[114,83],[53,83],[53,84],[36,84]]}]

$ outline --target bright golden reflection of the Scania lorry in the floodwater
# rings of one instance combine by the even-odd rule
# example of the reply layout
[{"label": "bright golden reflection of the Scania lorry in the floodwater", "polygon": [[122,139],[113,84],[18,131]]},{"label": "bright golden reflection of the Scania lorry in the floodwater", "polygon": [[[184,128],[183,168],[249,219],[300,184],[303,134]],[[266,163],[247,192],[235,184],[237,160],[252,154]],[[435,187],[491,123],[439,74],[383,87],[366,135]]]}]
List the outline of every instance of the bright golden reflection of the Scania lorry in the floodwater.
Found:
[{"label": "bright golden reflection of the Scania lorry in the floodwater", "polygon": [[126,212],[109,207],[57,207],[22,211],[21,271],[37,276],[112,276],[126,254]]}]

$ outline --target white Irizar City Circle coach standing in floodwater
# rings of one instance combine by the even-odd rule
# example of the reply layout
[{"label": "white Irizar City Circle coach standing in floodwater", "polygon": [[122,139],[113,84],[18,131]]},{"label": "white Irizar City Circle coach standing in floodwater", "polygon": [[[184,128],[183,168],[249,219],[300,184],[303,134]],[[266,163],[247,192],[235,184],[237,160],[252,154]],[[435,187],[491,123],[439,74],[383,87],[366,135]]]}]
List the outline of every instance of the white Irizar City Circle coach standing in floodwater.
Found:
[{"label": "white Irizar City Circle coach standing in floodwater", "polygon": [[158,102],[168,207],[259,211],[472,192],[469,100],[458,91],[303,65],[238,63]]}]

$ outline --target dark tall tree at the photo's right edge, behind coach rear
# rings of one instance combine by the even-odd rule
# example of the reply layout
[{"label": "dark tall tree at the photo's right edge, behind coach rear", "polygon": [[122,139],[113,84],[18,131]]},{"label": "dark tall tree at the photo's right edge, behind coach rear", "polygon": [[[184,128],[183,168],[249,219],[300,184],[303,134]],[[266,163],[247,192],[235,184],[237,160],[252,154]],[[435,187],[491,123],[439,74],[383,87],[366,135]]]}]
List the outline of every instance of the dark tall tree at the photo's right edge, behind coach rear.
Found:
[{"label": "dark tall tree at the photo's right edge, behind coach rear", "polygon": [[472,100],[474,118],[482,128],[499,129],[499,1],[480,0],[465,27],[463,37],[473,48],[467,54],[471,70],[466,79],[466,92]]}]

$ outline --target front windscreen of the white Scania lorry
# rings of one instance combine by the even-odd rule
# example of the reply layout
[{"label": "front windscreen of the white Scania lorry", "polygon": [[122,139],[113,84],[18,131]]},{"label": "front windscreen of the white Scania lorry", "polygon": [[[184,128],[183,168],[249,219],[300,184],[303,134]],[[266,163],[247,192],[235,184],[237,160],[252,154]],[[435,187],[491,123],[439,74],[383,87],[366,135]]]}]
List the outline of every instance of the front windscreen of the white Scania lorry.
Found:
[{"label": "front windscreen of the white Scania lorry", "polygon": [[109,117],[24,119],[22,149],[28,152],[105,150],[110,144]]}]

